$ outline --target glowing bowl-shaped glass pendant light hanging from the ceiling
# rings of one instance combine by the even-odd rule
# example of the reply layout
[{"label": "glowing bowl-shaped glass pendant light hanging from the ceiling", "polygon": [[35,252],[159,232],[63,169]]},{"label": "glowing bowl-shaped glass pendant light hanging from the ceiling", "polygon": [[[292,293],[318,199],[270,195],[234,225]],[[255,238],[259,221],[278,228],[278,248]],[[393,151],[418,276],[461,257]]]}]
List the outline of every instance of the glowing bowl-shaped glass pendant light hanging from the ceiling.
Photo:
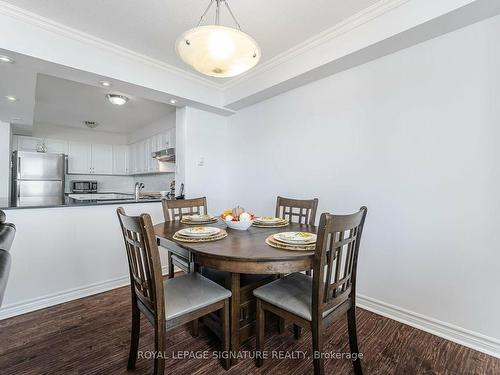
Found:
[{"label": "glowing bowl-shaped glass pendant light hanging from the ceiling", "polygon": [[[202,25],[215,3],[215,24]],[[224,4],[237,28],[220,25]],[[241,31],[227,0],[210,0],[198,25],[182,34],[176,42],[179,57],[195,70],[212,77],[234,77],[253,68],[260,60],[257,42]]]}]

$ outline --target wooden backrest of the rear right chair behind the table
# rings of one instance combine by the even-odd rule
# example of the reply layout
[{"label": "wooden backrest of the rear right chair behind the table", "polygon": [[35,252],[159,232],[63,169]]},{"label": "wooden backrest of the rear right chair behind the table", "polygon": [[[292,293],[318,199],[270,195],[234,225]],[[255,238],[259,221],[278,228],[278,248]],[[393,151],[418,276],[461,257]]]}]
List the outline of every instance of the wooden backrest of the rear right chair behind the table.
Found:
[{"label": "wooden backrest of the rear right chair behind the table", "polygon": [[276,199],[276,217],[287,219],[290,222],[314,225],[317,209],[318,198],[291,199],[278,197]]}]

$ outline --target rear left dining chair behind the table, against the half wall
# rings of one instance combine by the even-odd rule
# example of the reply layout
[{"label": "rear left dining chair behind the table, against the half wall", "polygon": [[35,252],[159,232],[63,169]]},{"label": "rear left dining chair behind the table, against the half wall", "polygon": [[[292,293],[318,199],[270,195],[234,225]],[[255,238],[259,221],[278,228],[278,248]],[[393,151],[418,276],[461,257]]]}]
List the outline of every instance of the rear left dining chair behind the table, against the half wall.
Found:
[{"label": "rear left dining chair behind the table, against the half wall", "polygon": [[[181,220],[185,215],[202,215],[207,214],[207,198],[193,199],[163,199],[161,201],[163,207],[163,216],[165,221]],[[184,254],[185,256],[182,256]],[[174,267],[177,266],[186,273],[192,271],[192,262],[187,252],[179,251],[174,254],[167,249],[168,259],[168,277],[174,277]]]}]

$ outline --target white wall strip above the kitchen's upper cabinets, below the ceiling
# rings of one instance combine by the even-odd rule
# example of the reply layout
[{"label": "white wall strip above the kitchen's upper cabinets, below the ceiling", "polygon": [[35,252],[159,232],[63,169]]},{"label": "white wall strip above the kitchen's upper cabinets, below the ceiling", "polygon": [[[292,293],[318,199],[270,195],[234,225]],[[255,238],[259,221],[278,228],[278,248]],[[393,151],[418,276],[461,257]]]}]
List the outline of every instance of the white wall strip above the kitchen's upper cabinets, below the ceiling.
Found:
[{"label": "white wall strip above the kitchen's upper cabinets, below the ceiling", "polygon": [[80,129],[46,123],[35,123],[33,126],[33,137],[114,145],[128,144],[128,137],[126,133],[112,133],[98,129]]}]

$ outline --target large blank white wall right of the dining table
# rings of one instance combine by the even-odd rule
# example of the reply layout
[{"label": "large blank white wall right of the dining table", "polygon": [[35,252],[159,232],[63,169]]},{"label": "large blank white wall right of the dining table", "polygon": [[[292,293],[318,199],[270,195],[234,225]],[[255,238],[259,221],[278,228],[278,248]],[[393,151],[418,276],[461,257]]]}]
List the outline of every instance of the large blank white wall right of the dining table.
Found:
[{"label": "large blank white wall right of the dining table", "polygon": [[498,345],[499,45],[496,17],[240,111],[229,199],[367,205],[358,292]]}]

